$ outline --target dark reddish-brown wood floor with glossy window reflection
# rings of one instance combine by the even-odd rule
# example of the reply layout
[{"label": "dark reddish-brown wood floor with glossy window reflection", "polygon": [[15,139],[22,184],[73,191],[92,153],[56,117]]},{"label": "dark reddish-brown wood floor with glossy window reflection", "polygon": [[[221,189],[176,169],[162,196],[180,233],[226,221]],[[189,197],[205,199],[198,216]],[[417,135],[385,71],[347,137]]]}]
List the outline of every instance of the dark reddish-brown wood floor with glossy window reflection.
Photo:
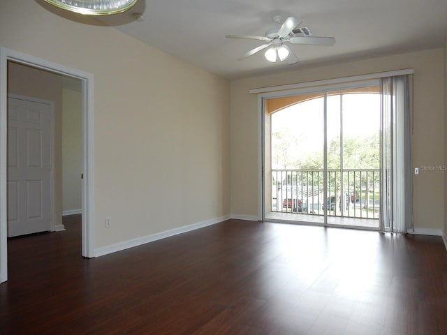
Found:
[{"label": "dark reddish-brown wood floor with glossy window reflection", "polygon": [[0,334],[447,334],[440,237],[230,220],[96,259],[8,241]]}]

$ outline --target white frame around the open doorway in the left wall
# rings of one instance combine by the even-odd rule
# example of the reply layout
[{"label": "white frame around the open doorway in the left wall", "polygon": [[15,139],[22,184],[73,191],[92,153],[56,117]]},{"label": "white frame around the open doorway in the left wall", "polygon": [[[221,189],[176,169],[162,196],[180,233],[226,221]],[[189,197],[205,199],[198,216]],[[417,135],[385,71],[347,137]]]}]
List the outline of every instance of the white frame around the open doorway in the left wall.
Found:
[{"label": "white frame around the open doorway in the left wall", "polygon": [[75,77],[82,82],[82,256],[94,255],[94,76],[75,68],[0,47],[0,283],[8,280],[7,239],[7,96],[8,61],[52,73]]}]

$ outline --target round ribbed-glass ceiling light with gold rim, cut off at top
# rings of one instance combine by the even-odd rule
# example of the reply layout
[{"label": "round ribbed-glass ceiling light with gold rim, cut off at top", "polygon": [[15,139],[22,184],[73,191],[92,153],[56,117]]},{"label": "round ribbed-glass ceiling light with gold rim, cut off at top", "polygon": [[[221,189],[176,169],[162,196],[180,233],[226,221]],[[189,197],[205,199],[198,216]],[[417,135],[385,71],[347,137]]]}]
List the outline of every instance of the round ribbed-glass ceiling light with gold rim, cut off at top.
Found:
[{"label": "round ribbed-glass ceiling light with gold rim, cut off at top", "polygon": [[53,6],[85,15],[111,15],[122,13],[138,0],[44,0]]}]

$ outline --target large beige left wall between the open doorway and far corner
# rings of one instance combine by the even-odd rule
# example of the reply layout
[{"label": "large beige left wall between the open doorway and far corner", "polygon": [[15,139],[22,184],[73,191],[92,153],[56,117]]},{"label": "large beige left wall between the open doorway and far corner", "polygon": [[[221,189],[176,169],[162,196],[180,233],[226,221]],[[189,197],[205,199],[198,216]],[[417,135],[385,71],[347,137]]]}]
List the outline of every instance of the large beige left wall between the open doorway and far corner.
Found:
[{"label": "large beige left wall between the open doorway and far corner", "polygon": [[36,1],[0,2],[0,45],[94,75],[96,248],[230,214],[227,80]]}]

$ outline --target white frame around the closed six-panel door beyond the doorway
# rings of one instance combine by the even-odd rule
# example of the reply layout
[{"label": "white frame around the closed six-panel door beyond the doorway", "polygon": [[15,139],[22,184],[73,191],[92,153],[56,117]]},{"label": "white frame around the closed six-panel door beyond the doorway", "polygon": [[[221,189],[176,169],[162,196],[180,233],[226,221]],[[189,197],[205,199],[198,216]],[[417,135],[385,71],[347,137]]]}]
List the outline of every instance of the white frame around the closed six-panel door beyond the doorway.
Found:
[{"label": "white frame around the closed six-panel door beyond the doorway", "polygon": [[[64,225],[62,227],[55,226],[56,223],[56,211],[54,210],[54,201],[56,198],[54,198],[55,190],[55,181],[54,181],[54,101],[50,100],[44,100],[39,98],[34,98],[31,96],[22,96],[20,94],[8,94],[8,98],[15,99],[15,100],[23,100],[23,101],[29,101],[31,103],[42,103],[45,105],[48,105],[50,107],[50,231],[54,232],[55,230],[64,230]],[[8,115],[6,115],[8,117]],[[6,125],[8,126],[8,125]],[[8,143],[6,143],[6,147],[8,147]],[[6,158],[8,160],[8,158]],[[8,161],[6,161],[8,163]],[[8,176],[6,176],[8,177]],[[6,195],[8,196],[8,195]],[[8,198],[6,198],[6,201],[8,201]]]}]

